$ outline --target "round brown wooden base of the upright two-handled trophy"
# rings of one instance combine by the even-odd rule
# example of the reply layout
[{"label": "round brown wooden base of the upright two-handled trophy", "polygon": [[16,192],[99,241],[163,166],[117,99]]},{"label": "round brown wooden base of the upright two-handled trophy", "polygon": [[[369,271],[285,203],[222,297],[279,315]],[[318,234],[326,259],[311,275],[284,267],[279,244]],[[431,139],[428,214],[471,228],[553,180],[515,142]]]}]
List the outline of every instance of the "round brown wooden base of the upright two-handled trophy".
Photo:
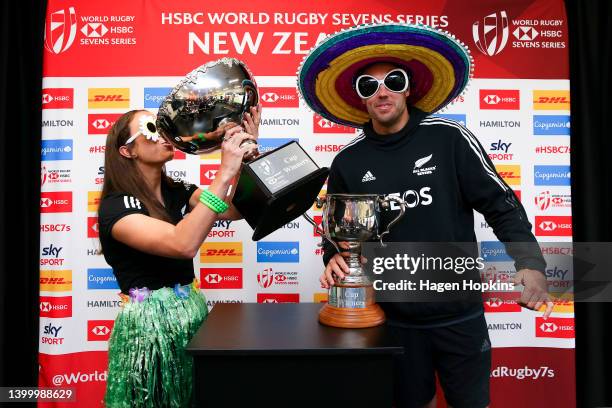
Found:
[{"label": "round brown wooden base of the upright two-handled trophy", "polygon": [[359,309],[325,304],[319,311],[319,322],[343,329],[362,329],[383,324],[385,312],[376,303]]}]

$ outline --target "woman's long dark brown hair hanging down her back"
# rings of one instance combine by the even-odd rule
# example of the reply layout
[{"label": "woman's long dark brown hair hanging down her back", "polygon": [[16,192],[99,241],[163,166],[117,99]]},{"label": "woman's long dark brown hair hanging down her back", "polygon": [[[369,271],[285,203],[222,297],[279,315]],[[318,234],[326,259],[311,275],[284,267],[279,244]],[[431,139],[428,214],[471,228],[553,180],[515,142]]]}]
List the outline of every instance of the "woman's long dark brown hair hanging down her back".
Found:
[{"label": "woman's long dark brown hair hanging down her back", "polygon": [[[106,137],[104,153],[104,185],[102,198],[111,193],[127,193],[136,197],[149,211],[149,215],[164,221],[170,221],[170,216],[164,206],[155,199],[155,194],[147,185],[142,172],[133,159],[122,156],[119,148],[130,137],[130,122],[138,112],[132,110],[121,115],[111,127]],[[172,178],[162,169],[161,182],[169,187],[176,187]]]}]

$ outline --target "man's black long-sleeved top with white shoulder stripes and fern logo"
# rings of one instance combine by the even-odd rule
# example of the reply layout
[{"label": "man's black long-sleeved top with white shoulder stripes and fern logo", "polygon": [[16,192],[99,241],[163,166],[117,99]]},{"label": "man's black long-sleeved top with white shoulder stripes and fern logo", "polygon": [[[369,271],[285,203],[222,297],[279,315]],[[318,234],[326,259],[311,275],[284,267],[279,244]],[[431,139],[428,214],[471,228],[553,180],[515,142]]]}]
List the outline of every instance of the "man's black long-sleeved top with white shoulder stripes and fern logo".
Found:
[{"label": "man's black long-sleeved top with white shoulder stripes and fern logo", "polygon": [[[461,124],[410,108],[397,133],[378,135],[371,123],[332,162],[328,193],[376,193],[404,198],[405,216],[388,235],[396,242],[476,242],[474,213],[482,213],[504,243],[534,243],[531,224],[513,190],[497,174],[476,137]],[[383,214],[383,225],[398,214]],[[324,245],[324,263],[335,249]],[[508,246],[517,270],[544,271],[537,245]],[[389,320],[443,324],[482,313],[482,304],[381,304]]]}]

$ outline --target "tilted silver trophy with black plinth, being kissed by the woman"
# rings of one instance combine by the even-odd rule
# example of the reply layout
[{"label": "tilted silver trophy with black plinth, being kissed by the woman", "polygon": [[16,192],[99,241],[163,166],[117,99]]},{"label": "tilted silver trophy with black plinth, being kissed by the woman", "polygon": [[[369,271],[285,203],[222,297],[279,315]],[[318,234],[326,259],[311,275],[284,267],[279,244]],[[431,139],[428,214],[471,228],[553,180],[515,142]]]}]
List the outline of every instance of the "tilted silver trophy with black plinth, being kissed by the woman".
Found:
[{"label": "tilted silver trophy with black plinth, being kissed by the woman", "polygon": [[[227,126],[241,125],[259,101],[246,64],[221,58],[188,73],[166,96],[157,113],[162,136],[191,154],[221,147]],[[248,143],[252,141],[246,141]],[[329,169],[320,168],[293,141],[256,157],[244,157],[232,203],[259,240],[310,208]]]}]

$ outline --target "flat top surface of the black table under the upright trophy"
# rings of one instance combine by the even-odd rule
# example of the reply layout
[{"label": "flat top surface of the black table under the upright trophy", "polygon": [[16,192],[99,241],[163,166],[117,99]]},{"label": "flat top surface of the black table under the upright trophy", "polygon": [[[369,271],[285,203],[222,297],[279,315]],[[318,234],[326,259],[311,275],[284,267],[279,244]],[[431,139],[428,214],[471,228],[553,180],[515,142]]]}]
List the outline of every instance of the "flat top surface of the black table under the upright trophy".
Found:
[{"label": "flat top surface of the black table under the upright trophy", "polygon": [[339,329],[318,321],[319,303],[217,303],[187,351],[193,355],[401,353],[385,326]]}]

